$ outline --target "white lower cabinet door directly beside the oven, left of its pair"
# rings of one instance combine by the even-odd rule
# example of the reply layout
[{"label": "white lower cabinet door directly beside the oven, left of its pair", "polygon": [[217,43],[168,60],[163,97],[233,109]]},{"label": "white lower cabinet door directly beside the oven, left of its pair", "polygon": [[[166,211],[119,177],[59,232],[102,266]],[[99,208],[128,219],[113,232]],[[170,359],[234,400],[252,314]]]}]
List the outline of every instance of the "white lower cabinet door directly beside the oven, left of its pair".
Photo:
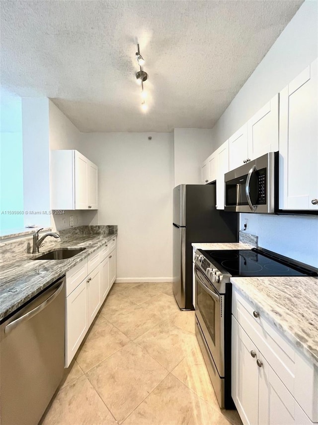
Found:
[{"label": "white lower cabinet door directly beside the oven, left of its pair", "polygon": [[232,398],[244,425],[258,423],[257,358],[257,348],[232,315]]}]

